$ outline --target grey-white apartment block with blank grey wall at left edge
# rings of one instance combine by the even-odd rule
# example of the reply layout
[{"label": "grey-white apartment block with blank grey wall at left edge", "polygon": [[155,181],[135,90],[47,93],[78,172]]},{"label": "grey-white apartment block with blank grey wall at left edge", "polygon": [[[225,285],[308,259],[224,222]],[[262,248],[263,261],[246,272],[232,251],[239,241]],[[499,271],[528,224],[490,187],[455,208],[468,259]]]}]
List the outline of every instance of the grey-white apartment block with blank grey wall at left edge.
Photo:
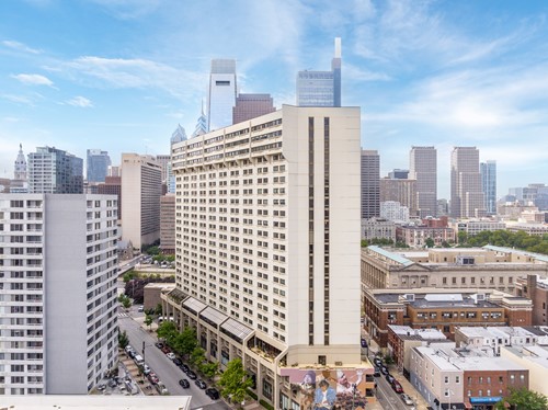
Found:
[{"label": "grey-white apartment block with blank grey wall at left edge", "polygon": [[1,194],[0,219],[0,397],[85,395],[118,361],[116,198]]}]

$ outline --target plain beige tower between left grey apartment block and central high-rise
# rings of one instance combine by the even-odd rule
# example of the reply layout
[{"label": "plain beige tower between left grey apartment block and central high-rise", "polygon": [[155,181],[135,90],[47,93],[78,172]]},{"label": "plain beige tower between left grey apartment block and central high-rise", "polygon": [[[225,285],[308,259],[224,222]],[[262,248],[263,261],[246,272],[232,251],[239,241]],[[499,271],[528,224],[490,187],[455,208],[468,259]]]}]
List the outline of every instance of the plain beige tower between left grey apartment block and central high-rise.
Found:
[{"label": "plain beige tower between left grey apartment block and central high-rise", "polygon": [[122,153],[122,239],[135,249],[160,239],[162,168],[152,156]]}]

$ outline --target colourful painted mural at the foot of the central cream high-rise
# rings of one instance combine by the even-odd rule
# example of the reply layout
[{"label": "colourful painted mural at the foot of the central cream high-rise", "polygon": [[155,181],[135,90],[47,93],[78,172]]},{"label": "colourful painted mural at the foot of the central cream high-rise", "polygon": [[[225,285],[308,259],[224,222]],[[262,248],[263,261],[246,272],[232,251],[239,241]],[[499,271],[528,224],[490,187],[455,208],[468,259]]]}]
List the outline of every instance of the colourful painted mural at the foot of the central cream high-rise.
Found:
[{"label": "colourful painted mural at the foot of the central cream high-rise", "polygon": [[284,368],[292,391],[300,392],[301,410],[365,409],[366,373],[370,369],[297,369]]}]

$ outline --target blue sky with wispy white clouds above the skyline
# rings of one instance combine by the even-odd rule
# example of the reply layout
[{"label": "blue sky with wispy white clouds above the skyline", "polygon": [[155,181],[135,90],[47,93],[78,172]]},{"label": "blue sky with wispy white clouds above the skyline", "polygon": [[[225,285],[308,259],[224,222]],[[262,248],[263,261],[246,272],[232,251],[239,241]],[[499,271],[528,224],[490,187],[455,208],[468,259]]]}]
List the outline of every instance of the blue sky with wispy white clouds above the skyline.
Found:
[{"label": "blue sky with wispy white clouds above the skyline", "polygon": [[411,146],[494,159],[499,196],[548,183],[548,3],[375,0],[0,1],[0,176],[55,146],[79,157],[168,153],[192,134],[212,58],[236,58],[241,92],[295,104],[301,69],[329,69],[342,37],[343,105],[381,175]]}]

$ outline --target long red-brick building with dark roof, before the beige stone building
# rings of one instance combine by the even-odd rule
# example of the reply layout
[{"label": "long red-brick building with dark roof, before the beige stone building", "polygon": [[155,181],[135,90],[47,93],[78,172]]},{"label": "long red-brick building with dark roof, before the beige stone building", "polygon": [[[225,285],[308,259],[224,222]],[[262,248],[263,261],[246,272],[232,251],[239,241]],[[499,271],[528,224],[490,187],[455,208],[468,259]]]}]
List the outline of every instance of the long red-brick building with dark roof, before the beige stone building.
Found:
[{"label": "long red-brick building with dark roof, before the beige stone building", "polygon": [[369,335],[387,348],[389,324],[438,329],[452,340],[459,326],[530,326],[532,303],[493,289],[366,289],[364,311]]}]

